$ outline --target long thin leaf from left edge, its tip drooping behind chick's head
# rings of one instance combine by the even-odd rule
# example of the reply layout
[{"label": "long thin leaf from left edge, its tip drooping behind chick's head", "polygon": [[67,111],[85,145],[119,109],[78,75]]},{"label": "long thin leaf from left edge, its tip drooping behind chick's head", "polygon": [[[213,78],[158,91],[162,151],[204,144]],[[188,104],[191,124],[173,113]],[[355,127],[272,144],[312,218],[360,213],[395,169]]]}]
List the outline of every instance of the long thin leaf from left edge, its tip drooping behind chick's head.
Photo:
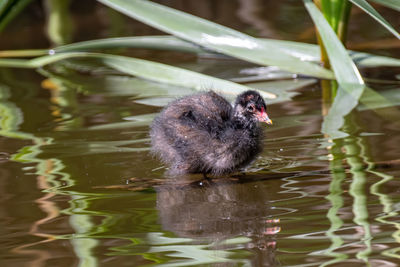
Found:
[{"label": "long thin leaf from left edge, its tip drooping behind chick's head", "polygon": [[[237,83],[161,63],[99,53],[61,53],[31,60],[1,59],[0,67],[39,68],[71,58],[95,58],[103,64],[129,75],[196,90],[216,89],[228,94],[238,94],[249,89]],[[266,98],[276,97],[276,95],[267,92],[260,91],[260,93]]]}]

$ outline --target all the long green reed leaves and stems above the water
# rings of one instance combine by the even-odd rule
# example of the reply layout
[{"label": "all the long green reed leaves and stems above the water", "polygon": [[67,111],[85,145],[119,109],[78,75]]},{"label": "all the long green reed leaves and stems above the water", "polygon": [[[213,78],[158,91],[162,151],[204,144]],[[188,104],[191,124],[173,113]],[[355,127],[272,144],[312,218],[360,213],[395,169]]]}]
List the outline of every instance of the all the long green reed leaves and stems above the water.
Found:
[{"label": "all the long green reed leaves and stems above the water", "polygon": [[[213,85],[224,92],[235,94],[238,91],[246,90],[248,88],[246,86],[177,67],[130,57],[93,53],[92,51],[111,47],[142,47],[192,53],[224,54],[259,65],[277,66],[295,74],[333,80],[334,84],[337,82],[338,89],[333,86],[331,87],[333,89],[329,89],[328,94],[326,93],[327,90],[324,93],[325,101],[332,103],[332,105],[329,112],[326,112],[322,132],[332,138],[338,138],[345,135],[339,131],[343,126],[344,116],[358,104],[365,90],[363,78],[353,60],[360,58],[360,53],[349,52],[344,46],[352,4],[364,10],[397,38],[400,37],[399,33],[365,0],[316,0],[315,3],[312,0],[303,0],[318,30],[321,61],[323,62],[323,66],[321,66],[321,61],[318,59],[319,51],[309,44],[254,38],[151,1],[98,1],[172,36],[92,40],[59,46],[50,50],[1,51],[1,57],[32,56],[36,58],[30,60],[1,59],[0,66],[39,68],[69,58],[96,58],[108,67],[156,82],[195,89],[202,89],[205,85]],[[8,3],[8,6],[4,5],[4,8],[0,8],[0,25],[10,20],[10,13],[22,10],[22,8],[11,8],[11,5],[16,7],[15,5],[18,2],[27,3],[27,1],[18,0],[6,1],[5,3]],[[393,1],[379,0],[376,2],[396,10],[400,9],[400,4]],[[21,3],[19,5],[22,5]],[[59,12],[59,10],[54,10],[54,12]],[[274,53],[270,53],[270,51],[274,51]],[[365,53],[363,53],[363,60],[357,62],[357,64],[362,65],[363,62],[371,60],[375,60],[378,65],[400,65],[398,59],[377,57]],[[369,64],[371,66],[371,63]],[[264,96],[275,97],[273,94],[265,92]],[[382,98],[382,101],[385,101],[384,98]]]}]

